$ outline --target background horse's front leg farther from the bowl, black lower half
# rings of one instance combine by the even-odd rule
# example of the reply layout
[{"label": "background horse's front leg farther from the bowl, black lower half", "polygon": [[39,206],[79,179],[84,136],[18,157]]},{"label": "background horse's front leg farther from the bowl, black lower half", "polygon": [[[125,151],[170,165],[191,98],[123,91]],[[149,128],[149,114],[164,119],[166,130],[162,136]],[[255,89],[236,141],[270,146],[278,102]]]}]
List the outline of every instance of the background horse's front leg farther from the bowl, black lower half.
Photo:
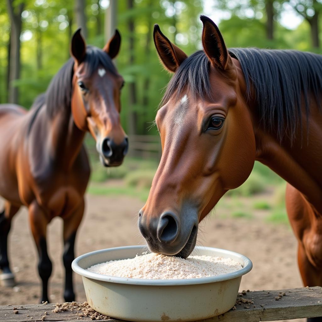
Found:
[{"label": "background horse's front leg farther from the bowl, black lower half", "polygon": [[48,280],[52,274],[52,262],[47,253],[46,235],[50,220],[35,201],[29,206],[29,220],[39,255],[38,272],[43,283],[41,301],[49,302]]}]

